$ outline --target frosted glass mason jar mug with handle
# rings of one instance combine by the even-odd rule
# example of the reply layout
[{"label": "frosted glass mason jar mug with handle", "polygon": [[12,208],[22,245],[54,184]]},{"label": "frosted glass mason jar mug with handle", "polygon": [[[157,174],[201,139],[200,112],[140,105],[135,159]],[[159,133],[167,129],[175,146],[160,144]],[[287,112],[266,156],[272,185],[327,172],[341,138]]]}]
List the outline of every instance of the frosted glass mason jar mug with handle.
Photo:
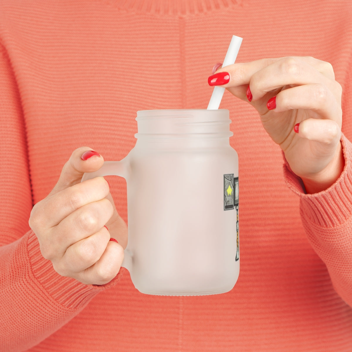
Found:
[{"label": "frosted glass mason jar mug with handle", "polygon": [[229,142],[229,111],[144,110],[136,120],[130,153],[82,178],[126,179],[122,266],[145,294],[230,291],[239,275],[239,239],[238,156]]}]

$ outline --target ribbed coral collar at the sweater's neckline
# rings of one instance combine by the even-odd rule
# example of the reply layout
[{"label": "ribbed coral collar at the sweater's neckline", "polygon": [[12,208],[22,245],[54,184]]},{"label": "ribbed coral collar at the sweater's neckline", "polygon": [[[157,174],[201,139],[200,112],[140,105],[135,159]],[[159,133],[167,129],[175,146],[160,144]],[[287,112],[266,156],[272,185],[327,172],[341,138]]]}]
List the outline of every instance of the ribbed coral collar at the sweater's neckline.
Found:
[{"label": "ribbed coral collar at the sweater's neckline", "polygon": [[137,13],[187,15],[241,5],[243,0],[102,0],[119,10]]}]

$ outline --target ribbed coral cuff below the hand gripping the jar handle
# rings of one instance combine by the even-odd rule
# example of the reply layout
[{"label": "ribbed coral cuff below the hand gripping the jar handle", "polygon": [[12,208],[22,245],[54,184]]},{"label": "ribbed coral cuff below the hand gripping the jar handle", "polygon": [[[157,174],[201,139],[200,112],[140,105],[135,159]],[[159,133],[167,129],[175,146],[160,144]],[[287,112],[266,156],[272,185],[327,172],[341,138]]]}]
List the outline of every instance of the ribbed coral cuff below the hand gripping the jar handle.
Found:
[{"label": "ribbed coral cuff below the hand gripping the jar handle", "polygon": [[76,279],[61,276],[54,270],[51,261],[42,256],[36,234],[29,231],[27,235],[28,256],[34,278],[55,301],[68,309],[83,308],[96,294],[120,280],[122,270],[105,285],[86,285]]}]

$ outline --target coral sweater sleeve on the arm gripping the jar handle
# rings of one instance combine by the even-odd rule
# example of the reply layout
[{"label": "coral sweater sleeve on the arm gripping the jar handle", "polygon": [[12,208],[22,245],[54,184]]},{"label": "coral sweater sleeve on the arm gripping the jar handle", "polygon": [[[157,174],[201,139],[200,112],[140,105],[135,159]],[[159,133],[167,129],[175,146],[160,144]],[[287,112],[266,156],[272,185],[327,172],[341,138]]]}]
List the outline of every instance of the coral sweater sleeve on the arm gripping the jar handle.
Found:
[{"label": "coral sweater sleeve on the arm gripping the jar handle", "polygon": [[40,253],[32,209],[26,128],[11,61],[0,45],[0,350],[25,351],[77,315],[101,290],[62,277]]}]

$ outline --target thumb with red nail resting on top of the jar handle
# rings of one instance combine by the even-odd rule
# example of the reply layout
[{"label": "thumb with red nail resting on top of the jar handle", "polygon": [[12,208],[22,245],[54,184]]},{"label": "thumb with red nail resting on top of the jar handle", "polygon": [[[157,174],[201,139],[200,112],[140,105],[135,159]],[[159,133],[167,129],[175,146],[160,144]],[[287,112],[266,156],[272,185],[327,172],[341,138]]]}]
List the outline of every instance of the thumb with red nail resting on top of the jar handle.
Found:
[{"label": "thumb with red nail resting on top of the jar handle", "polygon": [[93,149],[77,148],[63,166],[59,180],[49,196],[81,182],[84,172],[99,170],[103,163],[103,157]]}]

